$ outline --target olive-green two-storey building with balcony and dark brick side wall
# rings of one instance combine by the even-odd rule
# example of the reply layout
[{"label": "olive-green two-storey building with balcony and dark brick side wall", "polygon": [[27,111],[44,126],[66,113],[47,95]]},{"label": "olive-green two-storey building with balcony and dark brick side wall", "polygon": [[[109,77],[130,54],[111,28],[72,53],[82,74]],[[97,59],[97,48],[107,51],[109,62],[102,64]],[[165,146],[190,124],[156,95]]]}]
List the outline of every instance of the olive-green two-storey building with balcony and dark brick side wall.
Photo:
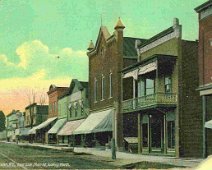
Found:
[{"label": "olive-green two-storey building with balcony and dark brick side wall", "polygon": [[138,63],[123,70],[123,83],[133,84],[132,97],[122,103],[124,135],[138,137],[138,153],[202,155],[197,42],[183,40],[181,29],[175,18],[173,26],[138,43]]}]

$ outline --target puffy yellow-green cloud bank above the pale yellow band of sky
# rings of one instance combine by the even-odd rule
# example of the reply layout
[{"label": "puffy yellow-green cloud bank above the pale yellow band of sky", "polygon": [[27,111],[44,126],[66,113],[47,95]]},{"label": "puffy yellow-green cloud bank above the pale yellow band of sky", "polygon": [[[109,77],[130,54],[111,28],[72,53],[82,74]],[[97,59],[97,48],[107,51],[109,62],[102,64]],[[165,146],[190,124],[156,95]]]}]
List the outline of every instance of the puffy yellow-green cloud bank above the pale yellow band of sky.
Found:
[{"label": "puffy yellow-green cloud bank above the pale yellow band of sky", "polygon": [[0,64],[4,67],[0,73],[4,78],[15,75],[28,76],[45,68],[48,78],[71,75],[74,78],[87,80],[88,58],[86,51],[65,47],[52,52],[42,41],[33,40],[18,46],[16,54],[19,59],[17,63],[10,62],[9,57],[0,54]]}]

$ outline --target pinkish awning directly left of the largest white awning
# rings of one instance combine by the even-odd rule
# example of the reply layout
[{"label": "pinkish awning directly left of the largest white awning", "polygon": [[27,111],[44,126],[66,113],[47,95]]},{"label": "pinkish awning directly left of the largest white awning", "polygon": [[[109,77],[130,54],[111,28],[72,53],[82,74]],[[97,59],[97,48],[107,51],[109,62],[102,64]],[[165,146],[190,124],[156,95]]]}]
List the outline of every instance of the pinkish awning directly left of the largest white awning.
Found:
[{"label": "pinkish awning directly left of the largest white awning", "polygon": [[76,130],[85,119],[73,120],[66,122],[62,129],[58,132],[58,136],[70,136],[73,134],[73,131]]}]

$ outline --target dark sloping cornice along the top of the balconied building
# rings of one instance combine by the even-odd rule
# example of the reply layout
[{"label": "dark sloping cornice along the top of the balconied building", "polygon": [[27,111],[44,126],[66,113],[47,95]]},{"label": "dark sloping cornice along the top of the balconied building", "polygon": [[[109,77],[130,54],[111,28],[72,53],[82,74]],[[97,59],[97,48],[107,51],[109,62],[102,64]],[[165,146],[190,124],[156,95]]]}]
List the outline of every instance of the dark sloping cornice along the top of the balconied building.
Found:
[{"label": "dark sloping cornice along the top of the balconied building", "polygon": [[171,26],[168,29],[166,29],[166,30],[154,35],[150,39],[146,40],[143,44],[139,45],[139,47],[140,48],[144,47],[144,46],[146,46],[146,45],[148,45],[148,44],[150,44],[150,43],[152,43],[152,42],[154,42],[154,41],[156,41],[156,40],[158,40],[158,39],[160,39],[160,38],[164,37],[165,35],[170,34],[172,32],[174,32],[174,28]]}]

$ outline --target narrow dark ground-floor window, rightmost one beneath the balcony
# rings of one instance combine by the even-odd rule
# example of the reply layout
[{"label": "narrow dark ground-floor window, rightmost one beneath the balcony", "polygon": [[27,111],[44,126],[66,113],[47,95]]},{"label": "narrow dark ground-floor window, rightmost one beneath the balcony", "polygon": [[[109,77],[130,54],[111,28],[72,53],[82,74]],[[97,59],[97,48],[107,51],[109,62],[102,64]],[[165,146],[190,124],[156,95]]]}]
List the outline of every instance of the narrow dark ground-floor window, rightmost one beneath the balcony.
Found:
[{"label": "narrow dark ground-floor window, rightmost one beneath the balcony", "polygon": [[167,129],[168,129],[168,148],[174,148],[175,147],[175,122],[168,121]]}]

